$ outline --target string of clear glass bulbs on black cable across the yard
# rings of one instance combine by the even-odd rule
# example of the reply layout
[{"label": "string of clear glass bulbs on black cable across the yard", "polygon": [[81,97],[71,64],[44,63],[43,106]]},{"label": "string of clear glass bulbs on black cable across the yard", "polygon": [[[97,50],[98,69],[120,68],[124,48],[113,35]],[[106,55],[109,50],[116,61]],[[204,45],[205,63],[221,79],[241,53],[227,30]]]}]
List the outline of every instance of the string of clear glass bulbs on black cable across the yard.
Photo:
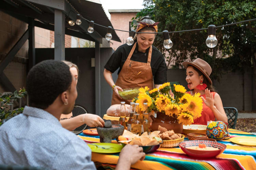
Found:
[{"label": "string of clear glass bulbs on black cable across the yard", "polygon": [[[82,17],[80,14],[77,14],[77,16],[83,18],[84,20],[88,21],[88,22],[91,22],[89,21],[88,19]],[[81,22],[81,19],[79,18],[79,22],[80,24],[82,23]],[[155,32],[143,32],[144,34],[163,34],[163,38],[164,38],[164,42],[163,42],[163,46],[167,49],[170,49],[173,45],[171,39],[170,39],[170,36],[169,36],[169,33],[181,33],[181,32],[190,32],[190,31],[202,31],[202,30],[208,30],[208,38],[206,39],[205,43],[207,45],[207,47],[209,48],[214,48],[216,47],[217,43],[218,43],[218,40],[215,36],[216,34],[216,29],[217,28],[222,28],[222,27],[227,27],[227,26],[232,26],[232,25],[236,25],[236,24],[239,24],[239,23],[243,23],[243,22],[251,22],[251,21],[256,21],[256,18],[254,19],[248,19],[248,20],[244,20],[244,21],[240,21],[240,22],[235,22],[235,23],[230,23],[230,24],[226,24],[226,25],[222,25],[222,26],[217,26],[215,27],[214,25],[210,25],[208,26],[208,28],[202,28],[202,29],[194,29],[194,30],[183,30],[183,31],[172,31],[172,32],[168,32],[167,30],[163,31],[163,32],[158,32],[158,33],[155,33]],[[76,24],[77,24],[77,20],[76,20]],[[80,25],[80,24],[77,24],[77,25]],[[125,30],[118,30],[118,29],[113,29],[112,27],[105,27],[105,26],[102,26],[100,24],[97,24],[97,23],[94,23],[100,27],[104,27],[104,28],[107,28],[107,34],[105,36],[106,40],[110,41],[112,39],[112,34],[111,34],[111,30],[116,30],[116,31],[123,31],[123,32],[129,32],[130,35],[131,33],[135,34],[135,33],[139,33],[139,32],[135,32],[134,30],[132,30],[131,32],[130,31],[125,31]],[[89,28],[88,28],[89,29]],[[89,32],[89,31],[88,31]],[[131,43],[133,44],[134,43],[134,40],[133,40],[133,37],[134,36],[130,36],[126,39],[126,44],[127,45],[130,45]],[[131,45],[132,45],[131,44]]]}]

